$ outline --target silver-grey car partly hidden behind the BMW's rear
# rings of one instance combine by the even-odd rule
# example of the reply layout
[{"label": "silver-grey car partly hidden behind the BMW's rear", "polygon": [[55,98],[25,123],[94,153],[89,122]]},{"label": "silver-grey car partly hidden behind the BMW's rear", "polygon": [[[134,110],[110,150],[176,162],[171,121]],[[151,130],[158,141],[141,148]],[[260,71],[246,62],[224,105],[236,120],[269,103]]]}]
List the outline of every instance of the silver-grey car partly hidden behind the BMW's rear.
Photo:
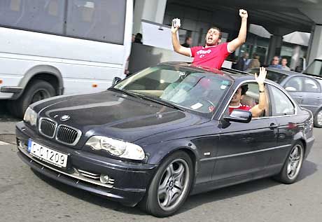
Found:
[{"label": "silver-grey car partly hidden behind the BMW's rear", "polygon": [[[258,73],[259,69],[247,72]],[[314,115],[314,126],[322,127],[322,80],[299,74],[294,71],[267,68],[267,76],[271,81],[279,83],[295,99],[300,106],[309,109]]]}]

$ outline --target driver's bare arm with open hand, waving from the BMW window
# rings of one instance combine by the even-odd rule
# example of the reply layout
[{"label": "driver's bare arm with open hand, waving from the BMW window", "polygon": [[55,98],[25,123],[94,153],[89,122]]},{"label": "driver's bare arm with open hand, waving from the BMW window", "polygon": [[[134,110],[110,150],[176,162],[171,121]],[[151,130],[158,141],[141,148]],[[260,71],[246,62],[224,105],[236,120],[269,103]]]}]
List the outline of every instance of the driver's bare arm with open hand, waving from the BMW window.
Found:
[{"label": "driver's bare arm with open hand, waving from the BMW window", "polygon": [[267,106],[267,98],[264,85],[266,74],[267,71],[264,67],[260,67],[260,74],[258,76],[257,74],[255,74],[255,80],[258,83],[258,89],[260,91],[260,98],[259,103],[256,106],[253,106],[253,108],[251,108],[251,114],[253,117],[260,116],[262,112],[265,111]]}]

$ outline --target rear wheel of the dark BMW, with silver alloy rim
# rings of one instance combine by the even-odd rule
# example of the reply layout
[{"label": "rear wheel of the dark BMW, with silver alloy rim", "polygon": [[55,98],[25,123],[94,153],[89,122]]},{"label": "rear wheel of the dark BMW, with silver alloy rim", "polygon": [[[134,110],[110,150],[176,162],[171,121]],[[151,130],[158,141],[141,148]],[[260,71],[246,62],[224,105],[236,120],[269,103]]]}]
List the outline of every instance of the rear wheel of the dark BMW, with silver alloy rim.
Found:
[{"label": "rear wheel of the dark BMW, with silver alloy rim", "polygon": [[294,183],[300,174],[303,160],[304,146],[301,141],[297,141],[297,143],[290,149],[281,172],[274,176],[274,179],[281,183]]}]

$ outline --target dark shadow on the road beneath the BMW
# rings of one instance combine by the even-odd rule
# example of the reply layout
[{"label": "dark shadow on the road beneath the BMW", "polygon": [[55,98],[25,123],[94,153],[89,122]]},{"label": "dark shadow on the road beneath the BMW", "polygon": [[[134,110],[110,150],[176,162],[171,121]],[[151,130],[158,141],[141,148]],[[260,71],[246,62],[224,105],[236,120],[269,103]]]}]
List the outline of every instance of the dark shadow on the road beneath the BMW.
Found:
[{"label": "dark shadow on the road beneath the BMW", "polygon": [[[298,181],[305,179],[307,176],[314,174],[316,172],[317,166],[314,162],[310,162],[305,160],[302,165],[302,170],[300,172],[300,176]],[[81,200],[85,200],[86,202],[90,202],[92,204],[97,204],[100,207],[106,207],[109,209],[113,209],[115,211],[121,211],[125,214],[138,214],[138,215],[146,215],[144,211],[141,211],[139,207],[125,207],[118,202],[113,202],[110,200],[106,200],[104,197],[100,197],[97,195],[93,195],[84,190],[79,190],[77,188],[73,188],[71,186],[67,186],[64,183],[59,183],[53,179],[48,178],[47,176],[43,176],[38,172],[34,172],[38,177],[40,177],[43,181],[48,183],[48,185],[57,188],[58,190],[62,190],[62,192],[72,195],[73,197],[78,197]],[[202,204],[206,204],[209,202],[217,202],[220,200],[229,199],[230,197],[237,197],[239,195],[245,195],[247,193],[253,193],[258,190],[265,190],[267,188],[271,188],[273,186],[279,186],[281,183],[276,182],[272,179],[258,179],[255,181],[249,181],[246,183],[241,183],[235,186],[229,186],[227,188],[221,188],[218,190],[213,190],[207,193],[202,193],[198,195],[193,195],[188,197],[186,203],[183,204],[183,207],[179,210],[177,214],[180,214],[184,211],[188,211],[195,207],[199,207]],[[283,185],[283,186],[292,186],[292,185]]]}]

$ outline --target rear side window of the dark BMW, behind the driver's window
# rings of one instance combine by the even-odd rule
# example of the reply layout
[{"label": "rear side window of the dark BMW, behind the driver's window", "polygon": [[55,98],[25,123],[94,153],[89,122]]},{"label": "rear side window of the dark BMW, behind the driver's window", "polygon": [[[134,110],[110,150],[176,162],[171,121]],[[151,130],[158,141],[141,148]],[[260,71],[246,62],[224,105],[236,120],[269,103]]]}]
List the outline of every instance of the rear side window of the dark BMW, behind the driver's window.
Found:
[{"label": "rear side window of the dark BMW, behind the driver's window", "polygon": [[284,92],[273,85],[269,85],[269,91],[270,109],[272,111],[272,116],[292,115],[295,113],[293,103],[285,95]]}]

